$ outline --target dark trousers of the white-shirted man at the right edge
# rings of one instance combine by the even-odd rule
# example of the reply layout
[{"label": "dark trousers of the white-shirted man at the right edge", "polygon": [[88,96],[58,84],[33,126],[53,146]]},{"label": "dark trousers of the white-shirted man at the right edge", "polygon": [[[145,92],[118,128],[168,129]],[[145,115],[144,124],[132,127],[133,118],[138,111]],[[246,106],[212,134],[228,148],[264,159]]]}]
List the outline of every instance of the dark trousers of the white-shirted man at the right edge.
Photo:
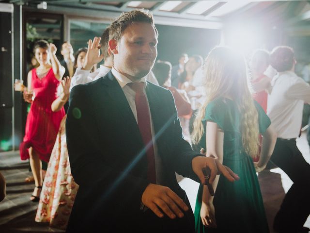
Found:
[{"label": "dark trousers of the white-shirted man at the right edge", "polygon": [[271,161],[294,182],[275,217],[274,228],[294,232],[303,227],[310,215],[310,165],[298,150],[295,139],[278,138]]}]

